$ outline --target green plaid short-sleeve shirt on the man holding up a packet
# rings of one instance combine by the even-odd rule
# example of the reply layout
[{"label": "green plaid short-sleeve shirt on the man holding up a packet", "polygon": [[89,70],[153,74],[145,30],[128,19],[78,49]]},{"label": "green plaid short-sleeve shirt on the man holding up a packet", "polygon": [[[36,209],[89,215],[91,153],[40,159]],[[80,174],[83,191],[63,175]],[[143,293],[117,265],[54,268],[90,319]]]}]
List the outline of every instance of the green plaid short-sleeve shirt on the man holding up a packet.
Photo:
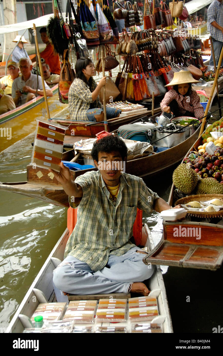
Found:
[{"label": "green plaid short-sleeve shirt on the man holding up a packet", "polygon": [[121,256],[135,246],[129,239],[133,236],[137,208],[151,213],[159,196],[141,178],[127,173],[120,176],[115,205],[109,199],[100,171],[87,172],[75,182],[82,187],[83,197],[79,204],[69,197],[69,204],[72,208],[78,206],[78,212],[64,258],[74,256],[98,271],[107,264],[109,253]]}]

